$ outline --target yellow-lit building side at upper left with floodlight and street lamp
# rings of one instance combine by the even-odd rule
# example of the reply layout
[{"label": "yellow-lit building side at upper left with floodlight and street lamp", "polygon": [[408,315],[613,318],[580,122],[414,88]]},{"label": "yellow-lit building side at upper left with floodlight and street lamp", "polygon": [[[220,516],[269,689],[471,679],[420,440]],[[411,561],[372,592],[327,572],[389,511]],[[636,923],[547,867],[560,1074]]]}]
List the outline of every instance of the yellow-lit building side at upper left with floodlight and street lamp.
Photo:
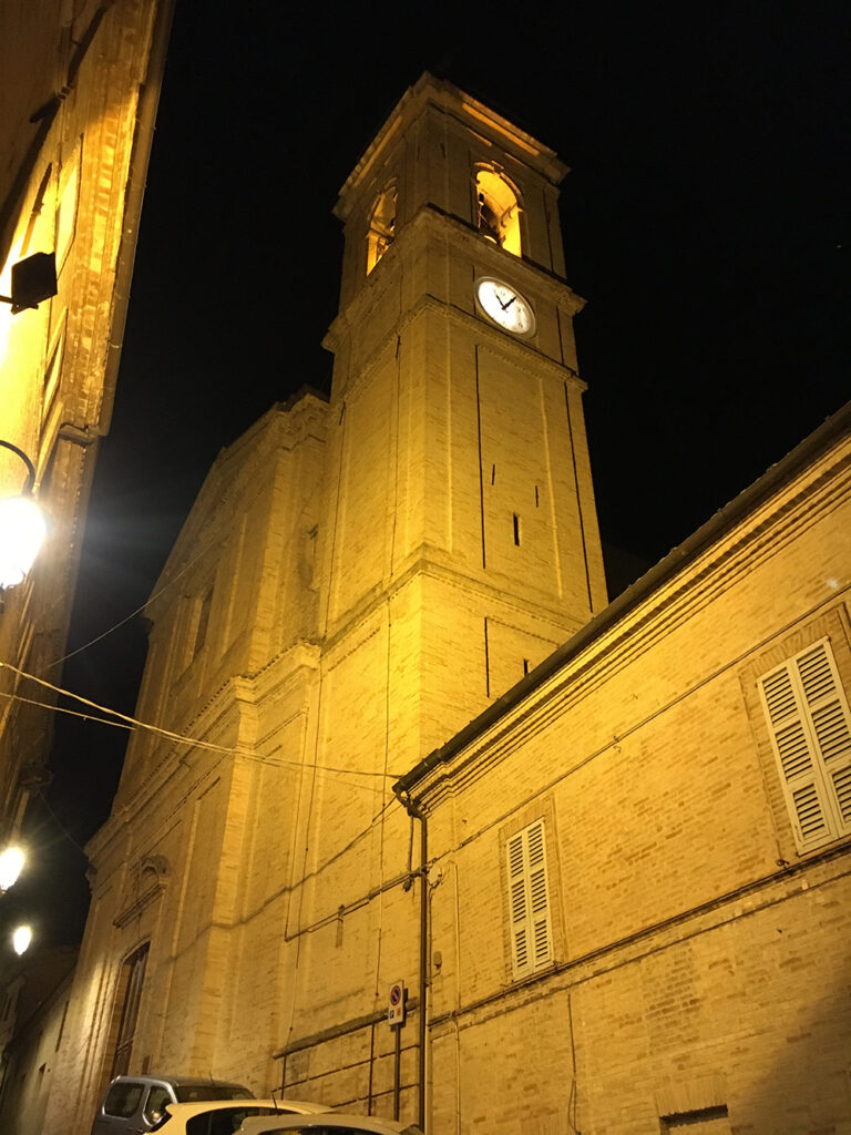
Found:
[{"label": "yellow-lit building side at upper left with floodlight and street lamp", "polygon": [[[0,14],[0,294],[12,264],[54,253],[58,294],[0,303],[0,437],[23,449],[49,523],[27,579],[7,590],[0,659],[56,680],[96,443],[109,429],[170,3],[10,0]],[[142,83],[145,94],[141,96]],[[0,494],[26,470],[0,449]],[[0,840],[43,780],[43,691],[0,673]]]}]

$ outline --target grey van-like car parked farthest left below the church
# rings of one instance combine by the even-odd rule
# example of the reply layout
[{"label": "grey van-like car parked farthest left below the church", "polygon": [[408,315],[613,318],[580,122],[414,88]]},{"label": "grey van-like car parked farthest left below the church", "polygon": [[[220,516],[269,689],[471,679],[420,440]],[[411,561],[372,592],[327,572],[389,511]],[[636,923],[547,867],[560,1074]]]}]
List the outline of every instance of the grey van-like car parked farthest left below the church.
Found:
[{"label": "grey van-like car parked farthest left below the church", "polygon": [[145,1135],[161,1120],[166,1104],[200,1100],[251,1100],[243,1084],[191,1076],[117,1076],[107,1088],[92,1135]]}]

